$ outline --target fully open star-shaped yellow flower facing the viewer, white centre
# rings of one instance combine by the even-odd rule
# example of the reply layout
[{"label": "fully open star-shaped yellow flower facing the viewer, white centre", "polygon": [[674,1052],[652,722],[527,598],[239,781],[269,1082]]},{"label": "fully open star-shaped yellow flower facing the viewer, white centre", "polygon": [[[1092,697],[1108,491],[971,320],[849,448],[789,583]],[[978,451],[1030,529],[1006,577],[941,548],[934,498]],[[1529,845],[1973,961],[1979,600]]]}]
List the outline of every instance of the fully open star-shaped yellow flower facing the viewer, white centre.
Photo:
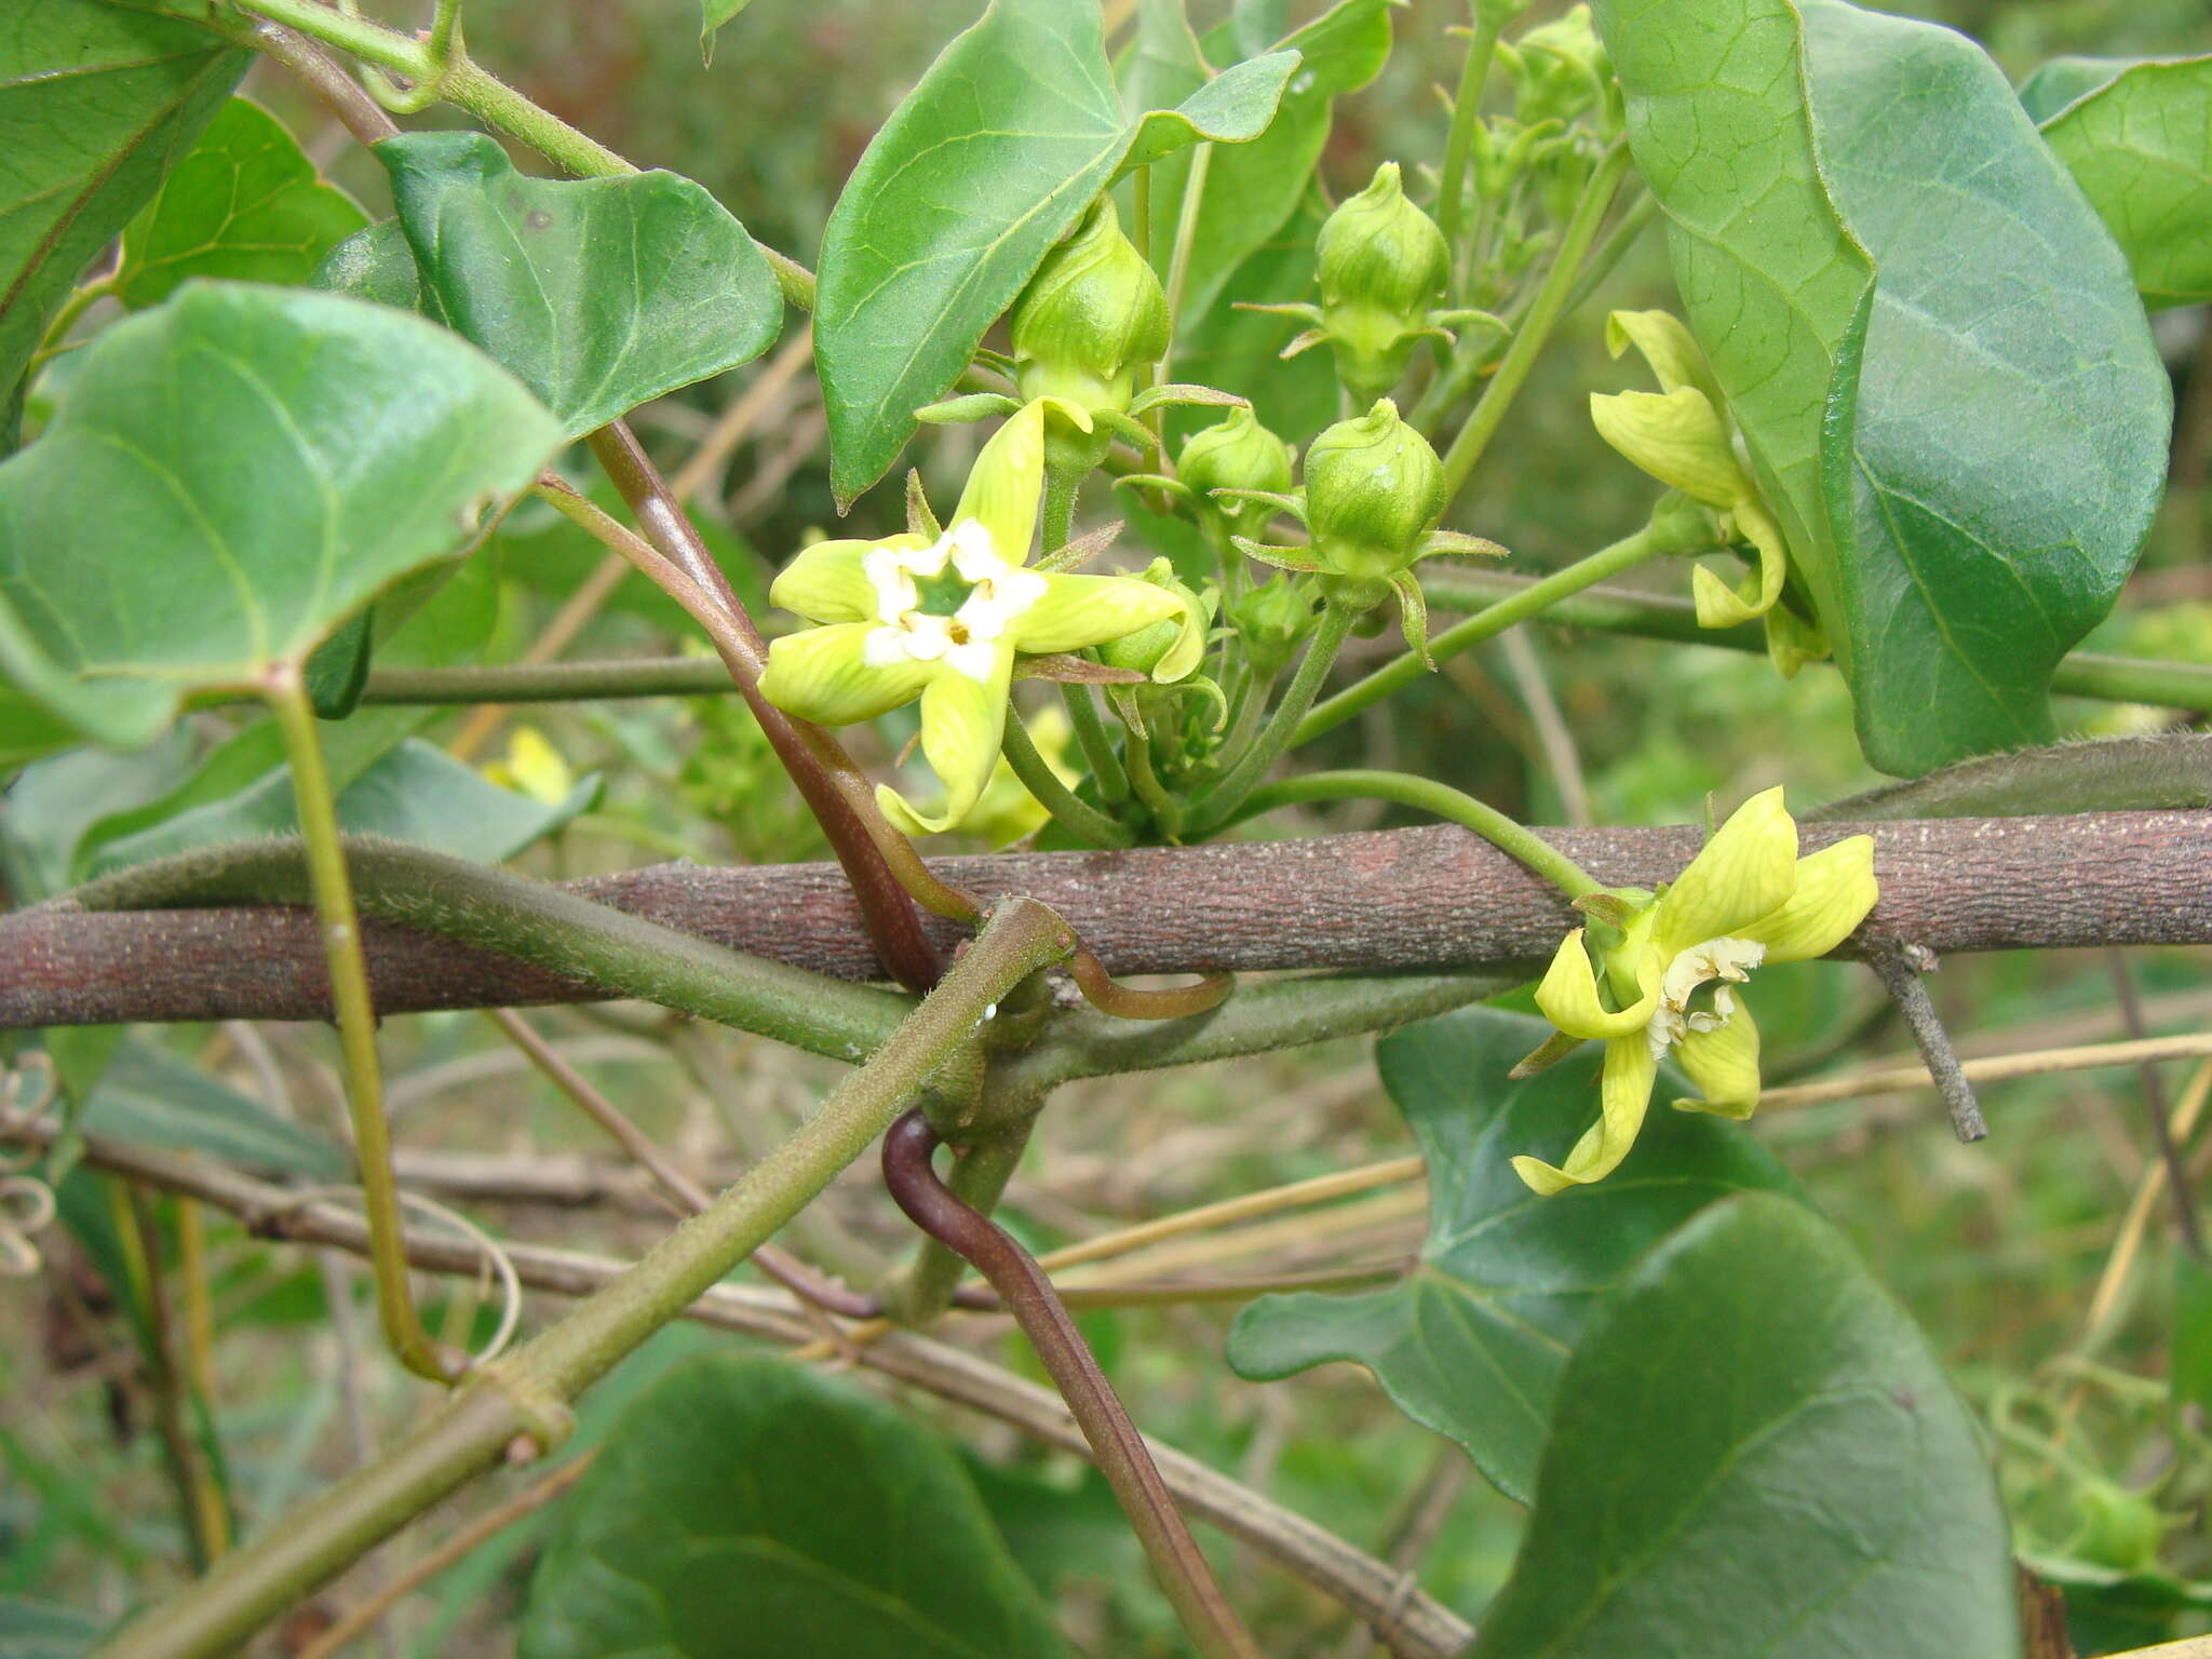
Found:
[{"label": "fully open star-shaped yellow flower facing the viewer, white centre", "polygon": [[[1044,403],[1022,405],[975,458],[951,524],[936,535],[816,542],[768,597],[818,628],[768,648],[761,692],[823,726],[922,701],[922,754],[945,785],[938,814],[891,787],[876,801],[907,834],[951,830],[998,763],[1015,653],[1084,650],[1181,615],[1177,597],[1126,575],[1029,568],[1044,491]],[[1086,427],[1091,416],[1057,405]]]}]

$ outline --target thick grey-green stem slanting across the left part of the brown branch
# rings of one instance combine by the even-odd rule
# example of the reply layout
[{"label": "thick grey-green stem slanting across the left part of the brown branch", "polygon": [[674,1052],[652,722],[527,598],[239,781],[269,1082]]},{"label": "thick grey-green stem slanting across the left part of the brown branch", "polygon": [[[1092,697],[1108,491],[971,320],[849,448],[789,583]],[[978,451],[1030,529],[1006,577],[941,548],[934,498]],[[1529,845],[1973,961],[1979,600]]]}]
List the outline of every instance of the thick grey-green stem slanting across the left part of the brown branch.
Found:
[{"label": "thick grey-green stem slanting across the left part of the brown branch", "polygon": [[[427,847],[349,836],[345,865],[358,905],[378,920],[467,940],[717,1024],[754,1031],[832,1060],[880,1044],[911,1006],[905,998],[681,933],[595,905],[529,876]],[[69,894],[80,909],[179,905],[296,905],[310,898],[296,841],[243,841],[135,865]]]}]

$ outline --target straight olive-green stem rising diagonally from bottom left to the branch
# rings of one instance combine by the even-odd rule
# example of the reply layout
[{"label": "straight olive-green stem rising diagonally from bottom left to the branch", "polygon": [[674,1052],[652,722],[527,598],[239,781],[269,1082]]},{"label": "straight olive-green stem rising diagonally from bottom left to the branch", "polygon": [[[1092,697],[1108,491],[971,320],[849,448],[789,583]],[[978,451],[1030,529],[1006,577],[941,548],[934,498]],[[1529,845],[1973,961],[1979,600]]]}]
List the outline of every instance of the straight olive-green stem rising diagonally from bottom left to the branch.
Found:
[{"label": "straight olive-green stem rising diagonally from bottom left to the branch", "polygon": [[889,1042],[783,1146],[644,1261],[493,1363],[422,1427],[217,1568],[126,1626],[102,1659],[217,1659],[400,1526],[489,1469],[518,1438],[549,1438],[566,1402],[770,1239],[911,1102],[984,1013],[1071,945],[1044,905],[1009,900]]}]

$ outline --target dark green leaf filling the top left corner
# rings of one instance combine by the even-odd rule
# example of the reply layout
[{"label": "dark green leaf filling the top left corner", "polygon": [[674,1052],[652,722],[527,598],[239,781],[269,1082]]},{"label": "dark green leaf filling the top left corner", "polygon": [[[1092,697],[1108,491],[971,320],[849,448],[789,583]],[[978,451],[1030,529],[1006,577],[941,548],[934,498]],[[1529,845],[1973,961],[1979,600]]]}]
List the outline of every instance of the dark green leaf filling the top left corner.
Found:
[{"label": "dark green leaf filling the top left corner", "polygon": [[100,0],[11,0],[0,22],[0,405],[77,272],[161,186],[252,53]]}]

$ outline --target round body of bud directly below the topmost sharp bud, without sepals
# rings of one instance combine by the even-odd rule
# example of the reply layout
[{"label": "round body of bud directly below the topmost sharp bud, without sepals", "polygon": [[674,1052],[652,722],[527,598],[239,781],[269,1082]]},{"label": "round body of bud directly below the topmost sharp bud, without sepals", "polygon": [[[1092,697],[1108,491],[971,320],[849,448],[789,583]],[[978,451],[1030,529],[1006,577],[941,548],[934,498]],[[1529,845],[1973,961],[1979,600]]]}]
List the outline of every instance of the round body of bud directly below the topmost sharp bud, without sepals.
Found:
[{"label": "round body of bud directly below the topmost sharp bud, without sepals", "polygon": [[1305,522],[1314,553],[1338,575],[1402,571],[1442,511],[1444,462],[1389,398],[1305,451]]}]

